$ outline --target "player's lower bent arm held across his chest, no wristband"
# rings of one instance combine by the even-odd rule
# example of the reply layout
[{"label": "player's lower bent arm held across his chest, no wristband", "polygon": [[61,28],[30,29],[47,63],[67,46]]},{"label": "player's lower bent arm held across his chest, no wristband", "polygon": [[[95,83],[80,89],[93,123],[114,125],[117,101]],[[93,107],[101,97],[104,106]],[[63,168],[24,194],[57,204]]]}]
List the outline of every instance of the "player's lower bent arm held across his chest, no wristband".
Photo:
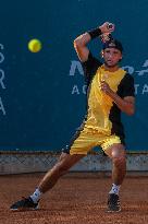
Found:
[{"label": "player's lower bent arm held across his chest, no wristband", "polygon": [[116,93],[114,93],[109,84],[104,81],[101,82],[101,90],[109,95],[116,106],[125,114],[132,116],[135,113],[135,97],[134,96],[125,96],[121,98]]}]

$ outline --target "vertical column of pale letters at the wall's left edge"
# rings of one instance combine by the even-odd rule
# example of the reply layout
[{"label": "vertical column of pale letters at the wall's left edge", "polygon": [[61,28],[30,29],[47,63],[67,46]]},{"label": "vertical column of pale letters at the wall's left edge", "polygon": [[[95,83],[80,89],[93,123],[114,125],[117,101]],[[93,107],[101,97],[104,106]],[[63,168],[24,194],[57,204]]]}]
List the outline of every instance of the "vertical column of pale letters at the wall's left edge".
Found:
[{"label": "vertical column of pale letters at the wall's left edge", "polygon": [[[3,50],[4,46],[2,44],[0,44],[0,50]],[[2,52],[0,52],[0,64],[4,61],[4,55]],[[2,90],[5,90],[5,85],[3,83],[3,80],[5,79],[4,76],[4,71],[2,69],[0,69],[0,86]],[[0,97],[0,111],[2,113],[2,115],[7,115],[5,109],[4,109],[4,105],[2,103],[2,98]]]}]

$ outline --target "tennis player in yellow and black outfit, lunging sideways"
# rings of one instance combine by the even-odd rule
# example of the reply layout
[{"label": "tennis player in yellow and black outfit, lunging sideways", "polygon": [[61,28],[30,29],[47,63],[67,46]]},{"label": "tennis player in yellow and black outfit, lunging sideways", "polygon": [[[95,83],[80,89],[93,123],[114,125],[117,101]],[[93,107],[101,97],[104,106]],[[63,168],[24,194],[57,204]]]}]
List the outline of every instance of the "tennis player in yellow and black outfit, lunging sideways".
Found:
[{"label": "tennis player in yellow and black outfit, lunging sideways", "polygon": [[106,22],[98,28],[78,36],[74,47],[83,64],[87,84],[87,113],[69,148],[63,150],[59,162],[45,175],[38,188],[28,198],[11,205],[11,210],[37,209],[41,194],[50,190],[57,180],[96,145],[100,145],[112,160],[112,187],[108,197],[108,211],[121,211],[119,191],[125,176],[124,131],[121,111],[133,115],[134,81],[119,67],[122,59],[122,45],[111,39],[103,44],[102,64],[92,57],[87,44],[113,32]]}]

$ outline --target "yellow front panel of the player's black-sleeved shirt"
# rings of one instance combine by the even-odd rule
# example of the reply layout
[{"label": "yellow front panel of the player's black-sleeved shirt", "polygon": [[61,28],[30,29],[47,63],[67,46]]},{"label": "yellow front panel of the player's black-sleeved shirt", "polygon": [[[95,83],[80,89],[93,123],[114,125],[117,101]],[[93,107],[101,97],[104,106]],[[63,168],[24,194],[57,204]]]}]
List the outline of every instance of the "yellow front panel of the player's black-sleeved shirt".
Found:
[{"label": "yellow front panel of the player's black-sleeved shirt", "polygon": [[113,101],[110,96],[103,93],[100,89],[100,82],[104,80],[113,92],[118,91],[118,86],[125,75],[123,69],[119,69],[115,72],[110,72],[104,69],[102,64],[97,70],[91,84],[88,96],[88,114],[86,120],[86,127],[104,132],[111,133],[112,123],[109,120],[109,115]]}]

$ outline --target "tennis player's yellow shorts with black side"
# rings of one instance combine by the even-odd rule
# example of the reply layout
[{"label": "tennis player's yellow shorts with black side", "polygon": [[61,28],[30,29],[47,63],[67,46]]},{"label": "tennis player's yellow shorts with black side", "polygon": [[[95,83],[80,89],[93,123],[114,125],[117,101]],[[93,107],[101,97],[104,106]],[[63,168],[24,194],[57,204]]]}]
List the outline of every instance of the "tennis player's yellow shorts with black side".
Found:
[{"label": "tennis player's yellow shorts with black side", "polygon": [[75,137],[71,145],[69,145],[66,150],[63,150],[63,152],[70,153],[71,155],[86,155],[95,146],[101,146],[101,149],[106,151],[114,143],[122,143],[120,137],[115,134],[107,135],[97,130],[84,128],[84,130],[79,131]]}]

